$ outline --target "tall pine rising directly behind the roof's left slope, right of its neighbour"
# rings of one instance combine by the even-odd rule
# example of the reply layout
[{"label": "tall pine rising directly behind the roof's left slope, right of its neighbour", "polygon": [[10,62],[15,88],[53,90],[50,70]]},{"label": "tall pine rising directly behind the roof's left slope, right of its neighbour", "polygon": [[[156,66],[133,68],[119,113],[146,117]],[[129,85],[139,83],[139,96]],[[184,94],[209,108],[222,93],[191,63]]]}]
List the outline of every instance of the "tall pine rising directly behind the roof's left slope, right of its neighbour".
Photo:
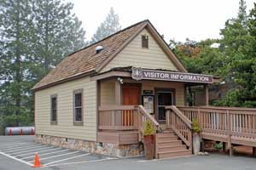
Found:
[{"label": "tall pine rising directly behind the roof's left slope, right of its neighbour", "polygon": [[71,13],[72,3],[62,3],[62,0],[32,2],[36,32],[32,60],[37,63],[32,69],[39,80],[67,54],[86,45],[85,31],[82,22]]}]

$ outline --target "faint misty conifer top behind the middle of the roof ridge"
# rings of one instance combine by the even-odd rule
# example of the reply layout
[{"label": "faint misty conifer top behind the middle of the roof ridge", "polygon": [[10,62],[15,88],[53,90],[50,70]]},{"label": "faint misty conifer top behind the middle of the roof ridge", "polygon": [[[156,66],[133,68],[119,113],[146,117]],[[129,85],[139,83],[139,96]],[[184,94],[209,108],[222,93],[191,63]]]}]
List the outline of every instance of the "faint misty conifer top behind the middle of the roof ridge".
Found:
[{"label": "faint misty conifer top behind the middle of the roof ridge", "polygon": [[91,37],[90,43],[98,42],[105,37],[119,31],[121,26],[119,25],[119,15],[114,14],[113,8],[110,8],[109,14],[106,20],[97,28],[96,33]]}]

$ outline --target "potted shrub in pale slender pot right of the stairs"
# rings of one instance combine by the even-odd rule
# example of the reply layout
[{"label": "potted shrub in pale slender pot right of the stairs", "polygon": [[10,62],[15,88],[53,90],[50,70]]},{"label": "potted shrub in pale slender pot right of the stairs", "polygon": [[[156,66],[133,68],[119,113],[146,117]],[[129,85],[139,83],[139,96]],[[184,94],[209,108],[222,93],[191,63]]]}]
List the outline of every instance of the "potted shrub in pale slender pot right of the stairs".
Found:
[{"label": "potted shrub in pale slender pot right of the stairs", "polygon": [[201,144],[201,126],[197,119],[195,118],[192,122],[192,132],[193,132],[193,152],[195,156],[198,155],[200,151],[200,144]]}]

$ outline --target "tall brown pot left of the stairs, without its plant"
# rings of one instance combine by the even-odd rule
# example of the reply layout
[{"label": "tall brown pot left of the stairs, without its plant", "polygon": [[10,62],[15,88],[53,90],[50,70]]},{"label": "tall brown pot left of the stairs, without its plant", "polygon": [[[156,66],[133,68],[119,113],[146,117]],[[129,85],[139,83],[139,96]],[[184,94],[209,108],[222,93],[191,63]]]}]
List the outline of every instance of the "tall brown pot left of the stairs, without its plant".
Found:
[{"label": "tall brown pot left of the stairs, without its plant", "polygon": [[146,159],[154,158],[154,135],[143,136],[143,144]]}]

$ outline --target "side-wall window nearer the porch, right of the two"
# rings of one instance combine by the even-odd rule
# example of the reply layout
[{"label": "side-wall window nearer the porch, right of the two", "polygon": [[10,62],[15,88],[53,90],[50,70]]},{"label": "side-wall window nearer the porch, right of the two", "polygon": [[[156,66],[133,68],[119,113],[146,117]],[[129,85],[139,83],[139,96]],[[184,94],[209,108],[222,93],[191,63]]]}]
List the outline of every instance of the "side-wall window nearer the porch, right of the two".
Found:
[{"label": "side-wall window nearer the porch, right of the two", "polygon": [[83,89],[73,91],[73,122],[83,124]]}]

